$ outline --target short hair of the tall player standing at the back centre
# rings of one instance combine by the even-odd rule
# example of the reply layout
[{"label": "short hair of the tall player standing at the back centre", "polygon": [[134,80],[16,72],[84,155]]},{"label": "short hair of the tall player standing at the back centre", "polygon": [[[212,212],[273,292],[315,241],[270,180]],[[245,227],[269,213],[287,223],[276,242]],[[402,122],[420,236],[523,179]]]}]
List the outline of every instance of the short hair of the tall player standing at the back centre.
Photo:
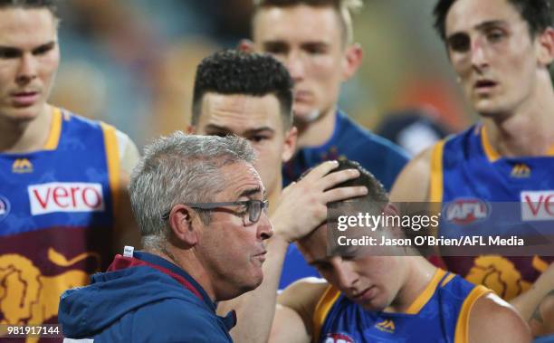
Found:
[{"label": "short hair of the tall player standing at the back centre", "polygon": [[[352,43],[354,40],[354,29],[352,28],[352,14],[363,7],[362,0],[253,0],[254,14],[262,8],[267,7],[291,7],[296,5],[308,5],[311,7],[332,7],[339,14],[340,26],[343,30],[345,43]],[[307,18],[306,20],[310,20]]]}]

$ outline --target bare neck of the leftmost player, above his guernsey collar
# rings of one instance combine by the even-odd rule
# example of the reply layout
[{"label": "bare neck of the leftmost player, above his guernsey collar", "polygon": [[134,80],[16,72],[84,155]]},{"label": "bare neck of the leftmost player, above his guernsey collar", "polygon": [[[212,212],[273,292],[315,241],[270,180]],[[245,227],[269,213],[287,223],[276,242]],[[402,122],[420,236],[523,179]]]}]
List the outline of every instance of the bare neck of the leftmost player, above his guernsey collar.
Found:
[{"label": "bare neck of the leftmost player, above his guernsey collar", "polygon": [[27,153],[41,150],[50,134],[52,119],[53,109],[47,104],[31,121],[0,119],[0,151]]}]

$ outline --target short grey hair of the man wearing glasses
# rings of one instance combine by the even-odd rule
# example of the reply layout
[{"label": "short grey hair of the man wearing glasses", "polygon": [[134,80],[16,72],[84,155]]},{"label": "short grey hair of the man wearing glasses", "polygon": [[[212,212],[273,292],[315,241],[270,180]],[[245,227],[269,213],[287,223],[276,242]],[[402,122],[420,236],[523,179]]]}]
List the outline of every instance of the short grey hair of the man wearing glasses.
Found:
[{"label": "short grey hair of the man wearing glasses", "polygon": [[[161,248],[170,233],[162,216],[174,205],[214,201],[225,188],[221,167],[252,164],[254,159],[248,141],[235,136],[195,136],[177,131],[148,145],[129,183],[131,206],[144,246]],[[208,224],[209,214],[200,215]]]}]

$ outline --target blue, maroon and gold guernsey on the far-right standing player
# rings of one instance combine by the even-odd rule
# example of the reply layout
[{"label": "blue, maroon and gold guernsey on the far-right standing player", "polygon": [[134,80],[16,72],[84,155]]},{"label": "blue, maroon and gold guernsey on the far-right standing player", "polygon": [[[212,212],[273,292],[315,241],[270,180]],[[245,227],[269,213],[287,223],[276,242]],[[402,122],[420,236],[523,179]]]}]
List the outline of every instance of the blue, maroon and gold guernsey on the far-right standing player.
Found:
[{"label": "blue, maroon and gold guernsey on the far-right standing player", "polygon": [[[430,200],[443,205],[441,235],[453,236],[464,230],[467,234],[506,237],[551,234],[554,147],[542,157],[501,157],[489,143],[482,124],[477,124],[436,144],[431,166]],[[480,231],[471,233],[468,224],[484,219],[487,222]],[[457,224],[454,230],[453,222]],[[532,253],[513,257],[485,252],[443,258],[449,271],[487,286],[504,300],[527,291],[553,261],[552,257]]]}]

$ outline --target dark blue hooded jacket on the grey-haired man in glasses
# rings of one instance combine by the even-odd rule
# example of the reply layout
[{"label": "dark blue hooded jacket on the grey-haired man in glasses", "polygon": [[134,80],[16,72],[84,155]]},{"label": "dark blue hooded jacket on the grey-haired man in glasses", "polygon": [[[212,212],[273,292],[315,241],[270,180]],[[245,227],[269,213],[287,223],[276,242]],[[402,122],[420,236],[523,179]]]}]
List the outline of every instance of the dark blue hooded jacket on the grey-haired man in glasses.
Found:
[{"label": "dark blue hooded jacket on the grey-haired man in glasses", "polygon": [[65,337],[94,342],[232,342],[234,313],[215,314],[215,303],[177,265],[146,252],[116,256],[110,272],[62,294],[59,320]]}]

